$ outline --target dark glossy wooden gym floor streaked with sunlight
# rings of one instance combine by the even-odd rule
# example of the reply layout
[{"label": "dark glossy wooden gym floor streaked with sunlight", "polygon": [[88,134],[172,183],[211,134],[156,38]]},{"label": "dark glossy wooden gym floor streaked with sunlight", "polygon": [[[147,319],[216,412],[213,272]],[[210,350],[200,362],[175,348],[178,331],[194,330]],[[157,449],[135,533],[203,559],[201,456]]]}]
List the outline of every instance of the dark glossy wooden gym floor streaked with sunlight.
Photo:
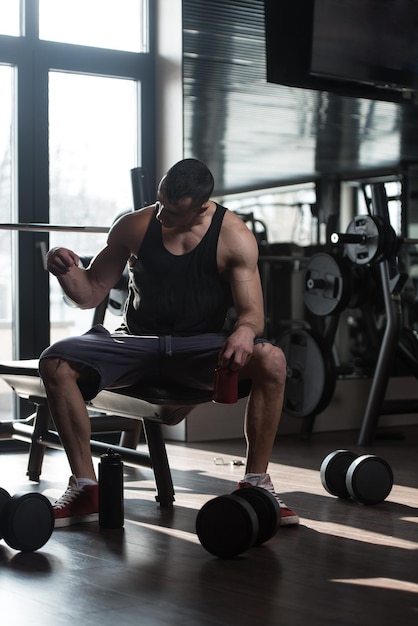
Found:
[{"label": "dark glossy wooden gym floor streaked with sunlight", "polygon": [[[194,526],[204,502],[234,490],[242,467],[232,462],[243,459],[243,443],[169,444],[172,511],[156,504],[150,471],[128,469],[123,530],[60,529],[33,554],[0,542],[1,624],[417,624],[418,428],[403,433],[368,449],[356,447],[357,433],[280,437],[270,473],[301,524],[228,561],[202,548]],[[391,464],[395,485],[383,504],[324,491],[319,466],[337,448]],[[60,451],[47,452],[39,485],[25,471],[24,453],[0,453],[0,486],[11,493],[54,499],[69,473]]]}]

